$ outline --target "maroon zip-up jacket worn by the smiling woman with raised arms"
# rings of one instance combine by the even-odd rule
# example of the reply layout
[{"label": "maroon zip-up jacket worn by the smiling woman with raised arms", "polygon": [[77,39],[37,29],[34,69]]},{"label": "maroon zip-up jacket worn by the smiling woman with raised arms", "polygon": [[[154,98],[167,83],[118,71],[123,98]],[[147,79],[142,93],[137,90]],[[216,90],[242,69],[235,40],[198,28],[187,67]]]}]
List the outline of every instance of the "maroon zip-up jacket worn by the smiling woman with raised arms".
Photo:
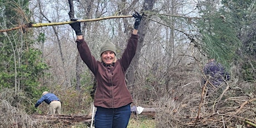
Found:
[{"label": "maroon zip-up jacket worn by the smiling woman with raised arms", "polygon": [[94,106],[118,108],[131,104],[132,97],[125,83],[125,72],[135,56],[138,35],[131,35],[121,58],[114,65],[105,65],[92,56],[85,40],[77,40],[77,49],[83,62],[95,75],[97,88]]}]

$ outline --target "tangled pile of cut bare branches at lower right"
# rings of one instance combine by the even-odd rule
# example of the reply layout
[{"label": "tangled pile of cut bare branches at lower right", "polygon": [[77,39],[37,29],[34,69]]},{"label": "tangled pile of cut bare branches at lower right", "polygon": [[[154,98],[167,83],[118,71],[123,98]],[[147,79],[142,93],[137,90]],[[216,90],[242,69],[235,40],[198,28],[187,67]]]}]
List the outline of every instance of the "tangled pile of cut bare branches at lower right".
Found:
[{"label": "tangled pile of cut bare branches at lower right", "polygon": [[157,112],[158,126],[256,127],[255,85],[235,85],[238,84],[223,84],[210,93],[205,93],[210,88],[205,86],[201,92],[183,96],[180,102],[169,99],[169,104],[165,97],[159,102],[162,107]]}]

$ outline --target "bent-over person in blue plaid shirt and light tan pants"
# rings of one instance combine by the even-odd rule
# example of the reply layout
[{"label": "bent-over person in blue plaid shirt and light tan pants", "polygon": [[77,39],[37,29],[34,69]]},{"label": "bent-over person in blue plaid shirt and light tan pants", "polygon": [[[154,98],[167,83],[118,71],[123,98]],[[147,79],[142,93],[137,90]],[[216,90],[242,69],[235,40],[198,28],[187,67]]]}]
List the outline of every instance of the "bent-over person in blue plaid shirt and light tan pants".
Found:
[{"label": "bent-over person in blue plaid shirt and light tan pants", "polygon": [[44,91],[42,93],[42,97],[37,100],[35,107],[37,108],[40,104],[42,104],[43,101],[45,101],[49,106],[49,110],[47,112],[47,115],[55,115],[55,114],[61,114],[61,102],[60,99],[53,93],[49,93],[47,91]]}]

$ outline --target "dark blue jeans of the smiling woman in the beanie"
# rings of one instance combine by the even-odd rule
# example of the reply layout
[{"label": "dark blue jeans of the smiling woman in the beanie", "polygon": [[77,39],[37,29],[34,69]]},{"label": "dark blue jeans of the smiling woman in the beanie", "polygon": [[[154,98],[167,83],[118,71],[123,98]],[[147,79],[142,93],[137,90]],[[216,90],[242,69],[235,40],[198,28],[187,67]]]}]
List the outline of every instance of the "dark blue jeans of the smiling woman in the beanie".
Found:
[{"label": "dark blue jeans of the smiling woman in the beanie", "polygon": [[95,128],[126,128],[130,116],[130,104],[116,109],[97,107],[95,114]]}]

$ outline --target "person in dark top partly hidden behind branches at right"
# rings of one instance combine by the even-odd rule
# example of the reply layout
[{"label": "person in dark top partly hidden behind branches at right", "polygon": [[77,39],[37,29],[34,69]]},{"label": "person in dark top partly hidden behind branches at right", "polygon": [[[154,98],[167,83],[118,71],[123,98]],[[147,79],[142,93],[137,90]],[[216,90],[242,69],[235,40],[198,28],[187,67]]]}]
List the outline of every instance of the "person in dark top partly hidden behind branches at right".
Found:
[{"label": "person in dark top partly hidden behind branches at right", "polygon": [[[208,78],[210,84],[215,87],[218,87],[221,83],[230,79],[230,75],[225,71],[225,68],[213,58],[206,63],[204,67],[204,74]],[[205,82],[206,80],[204,80],[204,83]]]}]

